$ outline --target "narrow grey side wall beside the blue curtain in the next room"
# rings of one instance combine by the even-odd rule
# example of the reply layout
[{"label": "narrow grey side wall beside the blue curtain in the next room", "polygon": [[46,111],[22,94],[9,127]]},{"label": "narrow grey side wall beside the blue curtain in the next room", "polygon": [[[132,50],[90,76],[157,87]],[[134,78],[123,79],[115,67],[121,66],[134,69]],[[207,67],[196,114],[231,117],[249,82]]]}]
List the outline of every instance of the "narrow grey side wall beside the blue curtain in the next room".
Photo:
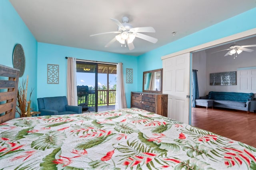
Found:
[{"label": "narrow grey side wall beside the blue curtain in the next room", "polygon": [[206,52],[205,50],[193,53],[192,69],[198,70],[198,89],[199,96],[206,95]]}]

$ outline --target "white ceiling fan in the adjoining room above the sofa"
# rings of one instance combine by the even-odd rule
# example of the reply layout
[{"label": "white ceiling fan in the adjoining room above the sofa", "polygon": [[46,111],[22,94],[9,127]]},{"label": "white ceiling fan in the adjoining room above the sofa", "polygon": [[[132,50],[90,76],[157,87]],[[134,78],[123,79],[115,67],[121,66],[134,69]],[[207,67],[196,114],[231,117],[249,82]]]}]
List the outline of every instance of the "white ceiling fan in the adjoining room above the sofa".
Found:
[{"label": "white ceiling fan in the adjoining room above the sofa", "polygon": [[[228,56],[228,55],[236,55],[242,53],[243,51],[247,51],[247,52],[252,52],[254,51],[253,49],[248,49],[246,47],[256,47],[256,45],[230,45],[230,47],[228,49],[224,49],[224,50],[220,50],[220,51],[225,51],[225,50],[229,50],[228,53],[226,53],[224,56]],[[213,53],[217,53],[220,51],[215,51]]]}]

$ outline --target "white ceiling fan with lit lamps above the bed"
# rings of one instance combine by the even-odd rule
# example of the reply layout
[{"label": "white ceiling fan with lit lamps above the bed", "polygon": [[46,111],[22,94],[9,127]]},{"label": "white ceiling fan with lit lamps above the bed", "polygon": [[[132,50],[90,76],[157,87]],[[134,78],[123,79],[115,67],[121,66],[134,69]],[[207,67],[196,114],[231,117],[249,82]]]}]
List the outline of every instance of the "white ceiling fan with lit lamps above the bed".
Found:
[{"label": "white ceiling fan with lit lamps above the bed", "polygon": [[[116,25],[118,25],[118,31],[94,34],[94,35],[101,35],[101,34],[107,34],[107,33],[118,33],[118,35],[116,35],[111,41],[109,41],[105,45],[105,47],[109,47],[112,43],[114,43],[117,40],[121,43],[121,46],[124,44],[126,47],[126,44],[127,44],[129,50],[133,50],[134,44],[132,42],[135,39],[135,37],[144,39],[151,43],[156,43],[158,41],[158,39],[154,37],[150,37],[148,35],[140,33],[140,32],[154,33],[156,31],[153,27],[135,27],[134,28],[130,23],[128,23],[129,18],[126,16],[122,18],[123,23],[120,23],[120,21],[114,18],[110,18],[110,20],[114,21]],[[90,36],[94,36],[94,35],[90,35]]]}]

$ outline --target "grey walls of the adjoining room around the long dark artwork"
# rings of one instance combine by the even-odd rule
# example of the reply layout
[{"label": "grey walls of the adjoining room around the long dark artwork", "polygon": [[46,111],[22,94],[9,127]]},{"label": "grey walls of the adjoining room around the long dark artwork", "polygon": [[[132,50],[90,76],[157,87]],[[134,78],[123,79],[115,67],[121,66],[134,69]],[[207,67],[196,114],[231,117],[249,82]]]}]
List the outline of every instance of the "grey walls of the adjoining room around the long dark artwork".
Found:
[{"label": "grey walls of the adjoining room around the long dark artwork", "polygon": [[[199,86],[199,89],[202,88],[199,90],[200,96],[204,96],[202,94],[208,94],[208,92],[210,91],[239,92],[237,85],[210,86],[210,73],[237,71],[237,68],[256,66],[256,47],[248,47],[249,49],[254,49],[254,51],[253,52],[243,51],[242,53],[237,55],[236,59],[234,59],[234,56],[230,56],[230,55],[224,57],[224,55],[228,52],[228,50],[225,50],[225,51],[220,51],[220,50],[228,49],[230,45],[233,45],[233,44],[234,42],[228,43],[226,45],[222,45],[219,47],[207,49],[205,50],[205,52],[200,51],[200,52],[193,53],[192,68],[197,69],[198,74],[200,74],[200,76],[198,76],[198,86]],[[256,44],[256,37],[236,42],[236,45],[252,45],[252,44]],[[220,51],[220,52],[213,53],[216,51]],[[199,71],[199,69],[204,68],[203,66],[204,60],[202,59],[202,53],[206,53],[205,75],[201,74]],[[204,82],[206,84],[205,88],[204,88]],[[253,93],[256,93],[256,92],[253,92]]]}]

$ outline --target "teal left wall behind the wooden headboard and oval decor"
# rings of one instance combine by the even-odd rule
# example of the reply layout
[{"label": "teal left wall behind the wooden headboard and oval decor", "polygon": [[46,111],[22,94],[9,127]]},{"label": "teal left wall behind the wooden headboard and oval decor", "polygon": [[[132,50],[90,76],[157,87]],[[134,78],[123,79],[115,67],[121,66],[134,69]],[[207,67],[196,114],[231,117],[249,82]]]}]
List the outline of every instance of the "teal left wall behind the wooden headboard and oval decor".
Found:
[{"label": "teal left wall behind the wooden headboard and oval decor", "polygon": [[[32,108],[37,109],[37,41],[8,0],[0,0],[0,64],[13,67],[14,46],[21,44],[26,58],[26,67],[19,81],[27,78],[28,92],[32,92]],[[16,115],[17,117],[18,115]]]}]

